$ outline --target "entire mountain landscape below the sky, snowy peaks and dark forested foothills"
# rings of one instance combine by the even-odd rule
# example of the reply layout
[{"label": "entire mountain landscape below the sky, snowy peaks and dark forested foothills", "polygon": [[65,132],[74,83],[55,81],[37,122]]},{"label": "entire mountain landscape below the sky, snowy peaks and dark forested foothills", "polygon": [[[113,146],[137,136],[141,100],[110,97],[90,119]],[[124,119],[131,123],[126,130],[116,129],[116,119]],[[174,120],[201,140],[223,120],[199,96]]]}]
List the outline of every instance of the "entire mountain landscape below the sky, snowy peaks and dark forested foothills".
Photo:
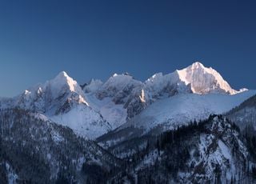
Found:
[{"label": "entire mountain landscape below the sky, snowy peaks and dark forested foothills", "polygon": [[200,62],[145,82],[125,73],[78,84],[63,71],[0,98],[0,180],[252,182],[255,94]]}]

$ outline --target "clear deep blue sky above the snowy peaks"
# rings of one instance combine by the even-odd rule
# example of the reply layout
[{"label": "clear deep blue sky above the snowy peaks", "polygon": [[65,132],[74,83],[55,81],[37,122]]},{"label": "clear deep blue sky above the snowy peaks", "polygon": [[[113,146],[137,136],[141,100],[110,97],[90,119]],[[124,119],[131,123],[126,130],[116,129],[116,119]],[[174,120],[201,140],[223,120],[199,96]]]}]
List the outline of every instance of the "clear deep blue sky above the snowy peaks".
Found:
[{"label": "clear deep blue sky above the snowy peaks", "polygon": [[125,71],[145,80],[196,60],[255,89],[255,1],[0,2],[0,96],[62,70],[80,83]]}]

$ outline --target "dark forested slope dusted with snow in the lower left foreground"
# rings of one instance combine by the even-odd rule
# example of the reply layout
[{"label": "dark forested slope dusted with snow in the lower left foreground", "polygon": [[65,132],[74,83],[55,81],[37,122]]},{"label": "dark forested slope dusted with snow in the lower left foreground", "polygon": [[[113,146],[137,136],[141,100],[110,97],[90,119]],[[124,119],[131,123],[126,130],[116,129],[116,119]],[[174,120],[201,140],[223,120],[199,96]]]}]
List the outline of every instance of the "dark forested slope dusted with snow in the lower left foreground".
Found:
[{"label": "dark forested slope dusted with snow in the lower left foreground", "polygon": [[0,125],[0,165],[6,174],[11,167],[22,183],[85,183],[90,181],[85,167],[98,166],[108,172],[121,164],[94,142],[40,114],[1,110]]}]

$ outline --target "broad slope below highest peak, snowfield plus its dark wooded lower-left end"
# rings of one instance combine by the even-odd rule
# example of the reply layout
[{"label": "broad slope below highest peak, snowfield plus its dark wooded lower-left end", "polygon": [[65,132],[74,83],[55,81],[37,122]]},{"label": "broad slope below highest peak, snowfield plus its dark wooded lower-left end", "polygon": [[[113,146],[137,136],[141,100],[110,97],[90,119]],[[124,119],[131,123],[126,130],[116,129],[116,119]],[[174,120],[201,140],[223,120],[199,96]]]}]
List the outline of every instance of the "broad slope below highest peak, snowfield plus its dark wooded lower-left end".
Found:
[{"label": "broad slope below highest peak, snowfield plus its dark wooded lower-left end", "polygon": [[249,90],[234,95],[177,94],[159,99],[118,129],[99,137],[98,142],[109,147],[143,134],[160,134],[166,130],[174,130],[190,121],[205,119],[210,114],[224,114],[254,94],[255,90]]}]

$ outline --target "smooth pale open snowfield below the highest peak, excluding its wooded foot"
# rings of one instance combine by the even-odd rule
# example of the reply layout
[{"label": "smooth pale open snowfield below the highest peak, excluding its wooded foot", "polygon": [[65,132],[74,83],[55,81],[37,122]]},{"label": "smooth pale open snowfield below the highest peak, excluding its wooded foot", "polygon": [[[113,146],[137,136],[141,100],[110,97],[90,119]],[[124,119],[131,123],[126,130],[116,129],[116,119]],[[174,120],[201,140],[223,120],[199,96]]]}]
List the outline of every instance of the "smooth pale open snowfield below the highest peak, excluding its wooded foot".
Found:
[{"label": "smooth pale open snowfield below the highest peak, excluding its wooded foot", "polygon": [[223,114],[256,94],[256,90],[229,94],[177,94],[160,99],[119,128],[134,126],[149,131],[157,126],[171,130],[181,123],[205,119],[210,114]]}]

